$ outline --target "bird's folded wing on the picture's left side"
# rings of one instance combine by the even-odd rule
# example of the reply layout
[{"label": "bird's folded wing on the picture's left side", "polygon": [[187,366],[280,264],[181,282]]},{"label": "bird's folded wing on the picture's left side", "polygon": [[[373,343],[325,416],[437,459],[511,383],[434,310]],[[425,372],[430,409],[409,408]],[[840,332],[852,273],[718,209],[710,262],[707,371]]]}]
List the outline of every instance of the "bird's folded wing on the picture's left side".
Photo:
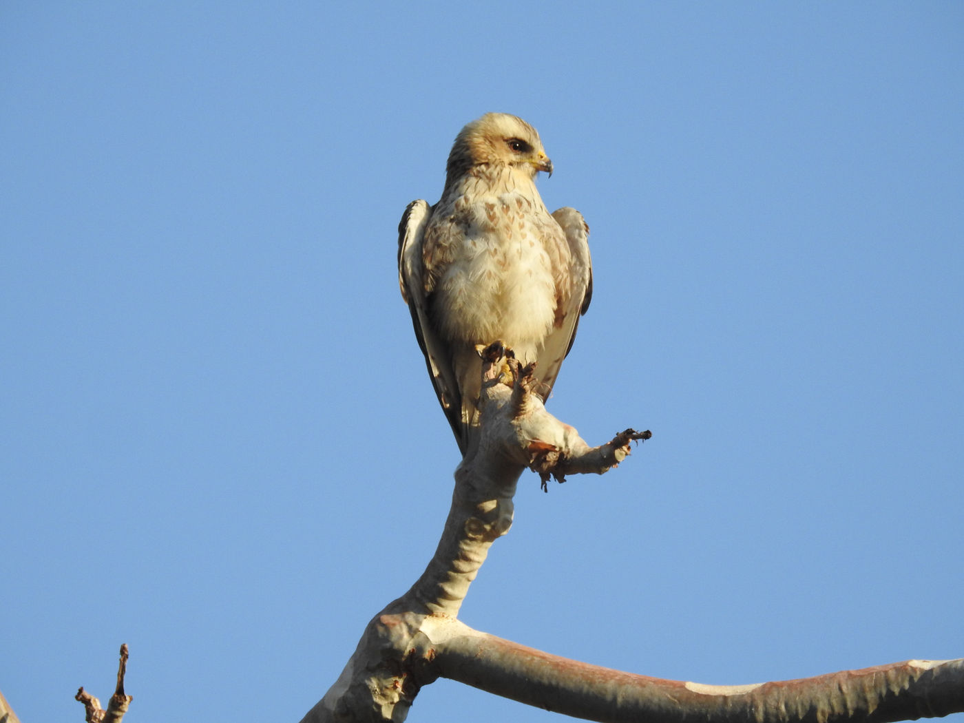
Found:
[{"label": "bird's folded wing on the picture's left side", "polygon": [[429,280],[426,279],[422,247],[431,216],[432,209],[426,201],[412,201],[405,208],[398,224],[398,285],[412,313],[415,338],[425,355],[425,365],[442,411],[462,447],[466,430],[462,423],[462,397],[452,368],[452,353],[448,344],[436,334],[429,316]]}]

